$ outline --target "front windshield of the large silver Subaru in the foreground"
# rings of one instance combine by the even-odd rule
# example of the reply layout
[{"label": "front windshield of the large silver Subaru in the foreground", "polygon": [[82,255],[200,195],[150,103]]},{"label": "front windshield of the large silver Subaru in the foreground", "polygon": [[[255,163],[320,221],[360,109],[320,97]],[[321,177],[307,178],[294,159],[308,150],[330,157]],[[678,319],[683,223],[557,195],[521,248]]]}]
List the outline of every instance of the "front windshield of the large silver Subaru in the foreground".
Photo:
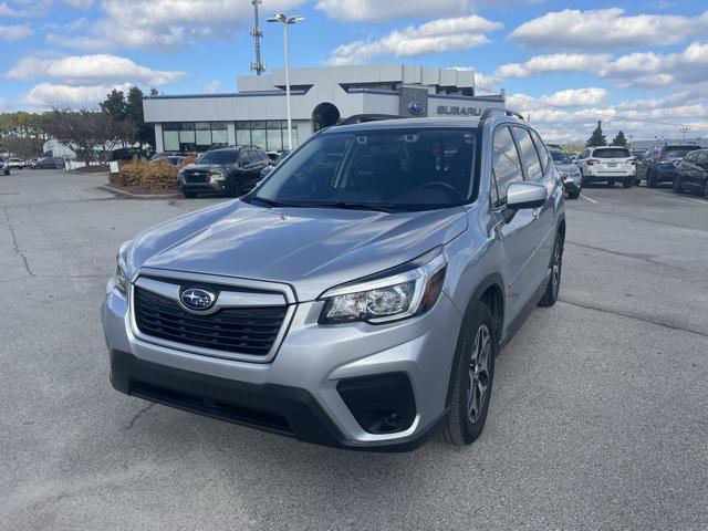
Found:
[{"label": "front windshield of the large silver Subaru in the foreground", "polygon": [[325,133],[283,159],[250,199],[387,211],[464,205],[477,188],[476,139],[461,128]]}]

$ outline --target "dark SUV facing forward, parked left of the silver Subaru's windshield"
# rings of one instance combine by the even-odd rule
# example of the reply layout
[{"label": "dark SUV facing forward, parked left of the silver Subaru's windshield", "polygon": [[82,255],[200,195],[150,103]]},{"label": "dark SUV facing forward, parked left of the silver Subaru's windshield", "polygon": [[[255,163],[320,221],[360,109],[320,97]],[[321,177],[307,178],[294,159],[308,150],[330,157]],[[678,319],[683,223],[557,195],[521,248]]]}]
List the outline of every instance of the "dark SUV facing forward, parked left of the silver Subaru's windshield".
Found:
[{"label": "dark SUV facing forward, parked left of the silver Subaru's windshield", "polygon": [[179,171],[177,186],[185,197],[214,191],[237,197],[251,191],[269,164],[268,155],[258,147],[211,149]]}]

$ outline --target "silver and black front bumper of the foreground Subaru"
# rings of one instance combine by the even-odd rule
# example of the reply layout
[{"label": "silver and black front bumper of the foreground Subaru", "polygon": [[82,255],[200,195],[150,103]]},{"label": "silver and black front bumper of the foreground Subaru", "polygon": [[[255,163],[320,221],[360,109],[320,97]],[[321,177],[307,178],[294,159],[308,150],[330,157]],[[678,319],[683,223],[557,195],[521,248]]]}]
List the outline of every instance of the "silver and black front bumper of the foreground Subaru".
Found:
[{"label": "silver and black front bumper of the foreground Subaru", "polygon": [[[445,293],[424,315],[377,326],[319,325],[323,304],[298,303],[275,357],[251,363],[143,341],[133,333],[127,301],[112,282],[106,291],[102,316],[111,381],[122,393],[310,442],[364,450],[414,449],[447,415],[461,315]],[[410,383],[412,421],[395,433],[369,433],[337,385],[392,374]]]}]

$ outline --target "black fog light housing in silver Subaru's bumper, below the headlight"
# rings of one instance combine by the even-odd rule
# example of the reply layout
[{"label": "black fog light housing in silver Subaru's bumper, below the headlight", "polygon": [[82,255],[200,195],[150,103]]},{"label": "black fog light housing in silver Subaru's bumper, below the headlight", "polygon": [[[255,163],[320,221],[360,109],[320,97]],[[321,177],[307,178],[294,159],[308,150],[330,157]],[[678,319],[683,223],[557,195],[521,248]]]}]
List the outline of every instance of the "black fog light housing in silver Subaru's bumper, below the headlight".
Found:
[{"label": "black fog light housing in silver Subaru's bumper, below the headlight", "polygon": [[336,389],[358,425],[369,434],[405,431],[415,420],[416,403],[405,373],[346,378]]}]

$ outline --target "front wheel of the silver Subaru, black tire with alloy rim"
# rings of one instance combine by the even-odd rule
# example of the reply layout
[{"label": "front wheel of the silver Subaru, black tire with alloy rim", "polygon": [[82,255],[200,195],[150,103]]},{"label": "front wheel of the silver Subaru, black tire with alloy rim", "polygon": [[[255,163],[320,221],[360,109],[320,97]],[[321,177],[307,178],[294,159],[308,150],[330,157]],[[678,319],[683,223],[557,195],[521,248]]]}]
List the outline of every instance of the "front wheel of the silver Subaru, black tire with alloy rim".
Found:
[{"label": "front wheel of the silver Subaru, black tire with alloy rim", "polygon": [[[480,355],[482,351],[483,356]],[[481,435],[487,421],[498,353],[494,320],[487,305],[478,302],[467,311],[457,339],[457,365],[452,367],[450,382],[450,412],[442,423],[438,439],[465,446]],[[479,358],[473,360],[473,356]]]}]

